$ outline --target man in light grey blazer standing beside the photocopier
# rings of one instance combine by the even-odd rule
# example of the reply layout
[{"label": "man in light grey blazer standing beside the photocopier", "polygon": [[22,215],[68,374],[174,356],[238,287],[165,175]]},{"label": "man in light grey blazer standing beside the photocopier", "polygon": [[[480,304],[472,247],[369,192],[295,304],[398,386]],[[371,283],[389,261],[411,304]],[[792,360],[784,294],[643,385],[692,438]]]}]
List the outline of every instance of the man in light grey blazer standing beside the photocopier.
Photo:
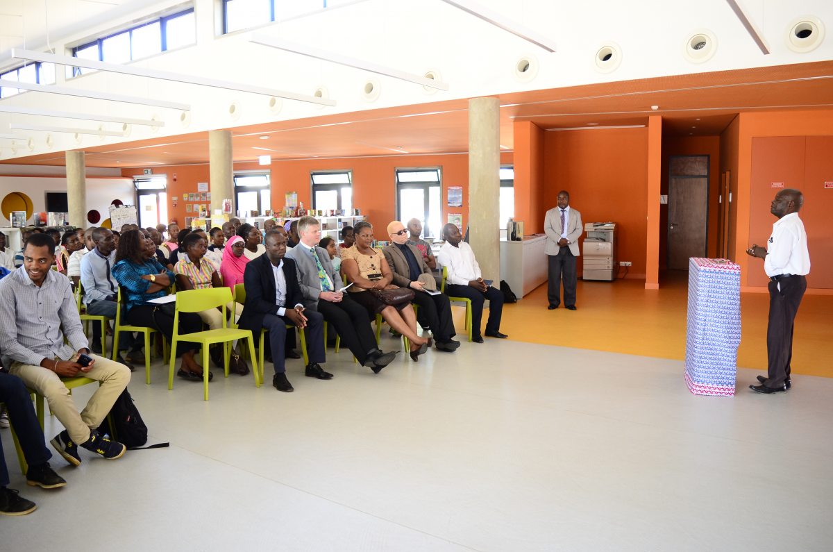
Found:
[{"label": "man in light grey blazer standing beside the photocopier", "polygon": [[546,286],[547,309],[558,309],[561,304],[561,279],[564,280],[564,306],[576,310],[576,257],[581,255],[578,238],[581,237],[581,213],[570,207],[570,193],[558,193],[558,207],[546,212],[544,232],[549,264]]}]

